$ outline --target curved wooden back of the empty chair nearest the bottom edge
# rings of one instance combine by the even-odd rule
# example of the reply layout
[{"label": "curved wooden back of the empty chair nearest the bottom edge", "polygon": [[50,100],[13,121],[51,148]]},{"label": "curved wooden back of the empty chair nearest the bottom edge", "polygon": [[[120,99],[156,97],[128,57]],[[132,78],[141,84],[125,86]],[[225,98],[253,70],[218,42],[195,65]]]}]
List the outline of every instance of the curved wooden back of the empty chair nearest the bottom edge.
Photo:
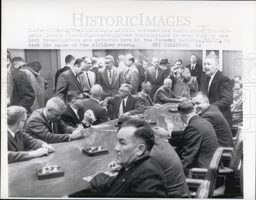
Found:
[{"label": "curved wooden back of the empty chair nearest the bottom edge", "polygon": [[219,173],[222,153],[222,147],[219,147],[215,151],[209,168],[206,172],[205,180],[200,184],[199,188],[197,189],[195,198],[212,198]]}]

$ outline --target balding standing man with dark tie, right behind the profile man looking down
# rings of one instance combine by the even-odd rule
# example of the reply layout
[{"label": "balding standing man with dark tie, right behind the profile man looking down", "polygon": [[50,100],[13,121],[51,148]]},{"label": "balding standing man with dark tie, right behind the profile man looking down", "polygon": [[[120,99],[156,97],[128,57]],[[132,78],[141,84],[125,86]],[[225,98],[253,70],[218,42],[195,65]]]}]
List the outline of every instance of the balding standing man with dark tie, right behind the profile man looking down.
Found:
[{"label": "balding standing man with dark tie, right behind the profile man looking down", "polygon": [[84,58],[86,68],[84,72],[81,74],[82,80],[83,80],[83,92],[86,94],[87,98],[90,98],[90,91],[91,87],[95,84],[96,78],[95,78],[95,73],[92,71],[89,71],[92,66],[92,61],[90,58]]}]

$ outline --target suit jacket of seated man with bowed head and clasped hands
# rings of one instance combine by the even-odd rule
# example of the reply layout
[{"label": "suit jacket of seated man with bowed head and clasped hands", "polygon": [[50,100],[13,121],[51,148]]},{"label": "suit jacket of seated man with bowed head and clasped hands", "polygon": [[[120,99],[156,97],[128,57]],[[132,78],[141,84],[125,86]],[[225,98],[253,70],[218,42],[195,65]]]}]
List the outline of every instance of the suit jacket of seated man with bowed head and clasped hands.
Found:
[{"label": "suit jacket of seated man with bowed head and clasped hands", "polygon": [[53,121],[54,125],[52,129],[43,113],[43,109],[44,108],[35,110],[28,118],[25,125],[25,132],[47,143],[69,141],[69,135],[72,134],[75,129],[65,124],[61,118]]}]

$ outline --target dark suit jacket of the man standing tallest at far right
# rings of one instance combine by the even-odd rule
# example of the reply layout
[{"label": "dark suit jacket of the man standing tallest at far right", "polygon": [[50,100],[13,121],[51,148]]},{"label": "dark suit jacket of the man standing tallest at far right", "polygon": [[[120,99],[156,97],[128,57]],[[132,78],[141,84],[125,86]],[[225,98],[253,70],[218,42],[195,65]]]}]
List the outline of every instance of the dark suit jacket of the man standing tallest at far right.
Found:
[{"label": "dark suit jacket of the man standing tallest at far right", "polygon": [[[201,91],[207,94],[208,88],[205,87],[207,76],[204,76],[202,80]],[[208,92],[209,103],[212,106],[217,106],[227,122],[231,127],[231,110],[230,105],[233,103],[233,91],[231,81],[228,77],[224,76],[219,70],[216,72],[212,79],[209,92]]]}]

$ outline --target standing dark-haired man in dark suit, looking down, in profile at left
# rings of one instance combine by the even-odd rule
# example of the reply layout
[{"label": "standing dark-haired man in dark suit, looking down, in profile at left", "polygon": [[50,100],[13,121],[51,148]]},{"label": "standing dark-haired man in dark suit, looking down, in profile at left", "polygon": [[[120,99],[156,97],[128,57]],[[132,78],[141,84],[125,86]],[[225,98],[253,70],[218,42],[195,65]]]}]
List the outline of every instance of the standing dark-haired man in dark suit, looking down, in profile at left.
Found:
[{"label": "standing dark-haired man in dark suit, looking down, in profile at left", "polygon": [[66,105],[67,102],[67,92],[71,90],[80,90],[83,93],[82,79],[80,79],[80,74],[86,70],[86,63],[83,59],[77,59],[74,63],[74,67],[60,74],[58,78],[56,97],[62,99]]}]

